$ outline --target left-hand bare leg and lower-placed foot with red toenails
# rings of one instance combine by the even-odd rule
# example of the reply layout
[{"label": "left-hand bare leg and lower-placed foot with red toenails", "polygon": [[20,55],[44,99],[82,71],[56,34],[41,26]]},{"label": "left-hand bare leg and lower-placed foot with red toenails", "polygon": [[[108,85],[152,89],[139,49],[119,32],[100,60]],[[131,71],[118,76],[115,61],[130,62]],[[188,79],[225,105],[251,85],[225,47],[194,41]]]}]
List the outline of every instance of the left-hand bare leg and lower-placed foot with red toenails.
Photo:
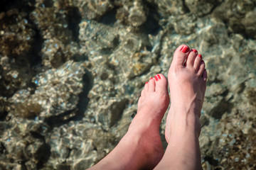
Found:
[{"label": "left-hand bare leg and lower-placed foot with red toenails", "polygon": [[157,74],[146,82],[127,134],[90,169],[153,169],[164,155],[159,126],[168,106],[166,77]]}]

